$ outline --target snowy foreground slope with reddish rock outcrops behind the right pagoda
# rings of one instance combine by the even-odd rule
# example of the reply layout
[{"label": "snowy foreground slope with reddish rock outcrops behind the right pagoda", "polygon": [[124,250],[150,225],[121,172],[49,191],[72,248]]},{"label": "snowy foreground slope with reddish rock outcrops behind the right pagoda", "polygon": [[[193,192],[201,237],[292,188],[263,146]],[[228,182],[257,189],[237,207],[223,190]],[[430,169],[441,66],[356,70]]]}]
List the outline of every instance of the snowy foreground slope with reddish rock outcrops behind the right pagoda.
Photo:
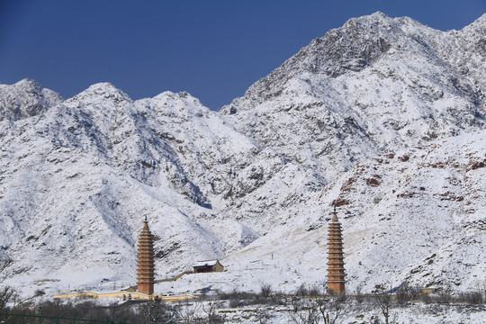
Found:
[{"label": "snowy foreground slope with reddish rock outcrops behind the right pagoda", "polygon": [[486,130],[380,155],[286,208],[278,231],[223,261],[232,269],[258,261],[260,274],[246,278],[253,289],[264,274],[272,278],[266,283],[287,291],[325,284],[328,206],[337,202],[347,292],[404,281],[475,291],[486,271],[484,179]]}]

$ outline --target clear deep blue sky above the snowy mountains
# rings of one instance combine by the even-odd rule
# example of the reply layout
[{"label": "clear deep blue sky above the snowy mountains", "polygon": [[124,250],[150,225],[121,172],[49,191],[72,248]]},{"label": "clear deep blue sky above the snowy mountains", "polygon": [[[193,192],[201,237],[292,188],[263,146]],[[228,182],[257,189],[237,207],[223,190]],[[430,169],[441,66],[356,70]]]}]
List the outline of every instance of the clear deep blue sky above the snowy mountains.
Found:
[{"label": "clear deep blue sky above the snowy mountains", "polygon": [[0,0],[0,82],[66,98],[108,81],[132,99],[187,91],[211,109],[312,39],[382,11],[461,29],[486,0]]}]

